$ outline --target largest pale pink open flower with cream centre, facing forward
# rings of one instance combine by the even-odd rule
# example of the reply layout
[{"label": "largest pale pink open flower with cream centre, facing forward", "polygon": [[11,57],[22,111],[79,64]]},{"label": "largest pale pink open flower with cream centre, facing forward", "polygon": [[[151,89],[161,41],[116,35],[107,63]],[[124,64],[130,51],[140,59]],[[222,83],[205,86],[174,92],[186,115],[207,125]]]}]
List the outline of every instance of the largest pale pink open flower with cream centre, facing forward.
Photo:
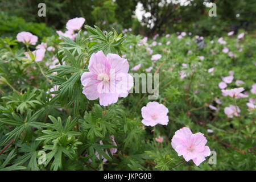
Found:
[{"label": "largest pale pink open flower with cream centre, facing forward", "polygon": [[82,93],[89,100],[100,98],[102,106],[114,104],[118,97],[127,97],[133,87],[133,77],[128,73],[129,63],[117,54],[93,53],[88,69],[89,72],[81,76]]}]

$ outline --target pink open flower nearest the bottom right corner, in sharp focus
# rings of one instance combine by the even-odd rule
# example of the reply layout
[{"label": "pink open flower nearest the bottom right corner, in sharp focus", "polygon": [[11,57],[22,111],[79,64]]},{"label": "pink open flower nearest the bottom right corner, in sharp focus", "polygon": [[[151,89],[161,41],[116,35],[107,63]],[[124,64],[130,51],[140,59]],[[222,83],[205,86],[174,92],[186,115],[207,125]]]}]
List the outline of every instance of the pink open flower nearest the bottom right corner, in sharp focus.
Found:
[{"label": "pink open flower nearest the bottom right corner, in sharp focus", "polygon": [[171,145],[178,156],[182,155],[187,162],[192,159],[199,166],[210,155],[210,148],[205,146],[206,143],[204,134],[192,134],[188,127],[183,127],[175,132]]}]

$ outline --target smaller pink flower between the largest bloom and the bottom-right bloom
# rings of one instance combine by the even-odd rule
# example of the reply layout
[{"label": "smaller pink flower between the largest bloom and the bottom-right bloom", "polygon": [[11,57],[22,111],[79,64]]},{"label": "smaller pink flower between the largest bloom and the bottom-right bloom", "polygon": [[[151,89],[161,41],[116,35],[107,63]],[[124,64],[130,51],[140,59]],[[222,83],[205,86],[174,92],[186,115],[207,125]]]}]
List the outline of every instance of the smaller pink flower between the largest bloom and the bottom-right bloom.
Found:
[{"label": "smaller pink flower between the largest bloom and the bottom-right bloom", "polygon": [[158,102],[148,102],[141,109],[142,123],[146,126],[155,126],[157,124],[167,125],[169,122],[168,109],[163,104]]}]

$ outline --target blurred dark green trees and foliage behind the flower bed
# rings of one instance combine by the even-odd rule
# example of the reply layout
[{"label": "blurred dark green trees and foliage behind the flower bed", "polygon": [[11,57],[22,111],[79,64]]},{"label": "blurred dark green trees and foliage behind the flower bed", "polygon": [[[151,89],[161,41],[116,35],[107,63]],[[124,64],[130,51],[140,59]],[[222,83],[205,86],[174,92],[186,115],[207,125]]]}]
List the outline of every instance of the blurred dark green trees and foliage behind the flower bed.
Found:
[{"label": "blurred dark green trees and foliage behind the flower bed", "polygon": [[[46,17],[37,15],[41,2],[46,3]],[[211,2],[217,5],[216,17],[208,15]],[[140,20],[135,15],[139,8]],[[240,28],[252,31],[256,26],[255,0],[1,0],[0,11],[1,36],[27,30],[42,37],[51,34],[46,27],[59,30],[67,20],[80,16],[90,26],[96,24],[105,30],[133,28],[135,34],[145,36],[177,31],[221,35],[227,31],[237,33]],[[34,23],[27,26],[26,22]]]}]

